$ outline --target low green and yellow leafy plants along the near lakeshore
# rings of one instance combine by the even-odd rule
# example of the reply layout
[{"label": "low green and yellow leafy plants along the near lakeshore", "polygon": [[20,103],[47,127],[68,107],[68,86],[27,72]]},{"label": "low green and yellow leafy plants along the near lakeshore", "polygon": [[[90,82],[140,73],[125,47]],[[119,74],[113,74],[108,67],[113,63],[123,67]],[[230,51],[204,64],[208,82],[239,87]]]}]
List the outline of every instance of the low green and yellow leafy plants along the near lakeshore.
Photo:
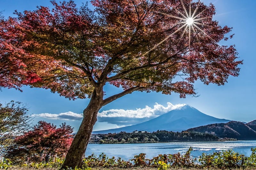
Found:
[{"label": "low green and yellow leafy plants along the near lakeshore", "polygon": [[[99,157],[92,154],[87,158],[84,158],[82,168],[75,168],[74,170],[91,170],[93,167],[104,167],[104,168],[131,168],[131,167],[155,167],[158,170],[167,170],[170,167],[179,168],[219,168],[219,169],[233,169],[233,168],[256,168],[256,148],[252,148],[252,154],[250,157],[245,157],[242,154],[233,152],[232,150],[213,152],[211,154],[203,153],[198,159],[192,158],[190,152],[192,147],[188,151],[181,155],[180,153],[175,154],[160,154],[153,159],[146,159],[145,153],[135,155],[130,161],[122,160],[121,158],[116,159],[115,157],[108,158],[104,153],[100,154]],[[63,164],[64,159],[54,158],[50,159],[49,162],[41,163],[23,163],[18,166],[33,167],[33,168],[60,168]],[[0,160],[0,168],[8,169],[12,166],[12,162],[9,160]],[[67,170],[72,170],[67,167]]]}]

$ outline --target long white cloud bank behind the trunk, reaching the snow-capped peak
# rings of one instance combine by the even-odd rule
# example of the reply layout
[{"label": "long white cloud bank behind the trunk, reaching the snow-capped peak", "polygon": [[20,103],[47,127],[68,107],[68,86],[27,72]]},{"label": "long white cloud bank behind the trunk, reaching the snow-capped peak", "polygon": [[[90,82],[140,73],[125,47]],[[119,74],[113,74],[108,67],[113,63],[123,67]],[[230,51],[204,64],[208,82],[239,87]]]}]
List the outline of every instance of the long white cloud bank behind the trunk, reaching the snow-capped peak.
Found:
[{"label": "long white cloud bank behind the trunk, reaching the snow-capped peak", "polygon": [[[99,122],[107,122],[110,124],[116,124],[118,126],[132,125],[158,117],[164,113],[180,108],[184,105],[185,104],[173,105],[172,103],[168,102],[166,107],[161,104],[155,103],[153,108],[145,106],[145,108],[139,108],[135,110],[110,109],[99,112],[97,119]],[[83,118],[83,114],[77,114],[71,111],[60,114],[41,113],[34,114],[33,116],[63,120],[82,120]]]}]

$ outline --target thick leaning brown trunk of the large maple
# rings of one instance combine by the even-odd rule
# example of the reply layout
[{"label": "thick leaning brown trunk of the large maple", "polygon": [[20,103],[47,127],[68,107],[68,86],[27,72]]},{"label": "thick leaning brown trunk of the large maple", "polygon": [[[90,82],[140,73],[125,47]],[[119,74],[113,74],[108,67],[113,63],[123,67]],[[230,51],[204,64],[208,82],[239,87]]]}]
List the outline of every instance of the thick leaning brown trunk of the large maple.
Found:
[{"label": "thick leaning brown trunk of the large maple", "polygon": [[96,94],[96,90],[94,90],[91,101],[84,110],[83,121],[60,169],[67,169],[67,167],[75,169],[75,167],[82,166],[84,153],[91,137],[93,125],[96,123],[98,111],[102,107],[102,99],[103,93]]}]

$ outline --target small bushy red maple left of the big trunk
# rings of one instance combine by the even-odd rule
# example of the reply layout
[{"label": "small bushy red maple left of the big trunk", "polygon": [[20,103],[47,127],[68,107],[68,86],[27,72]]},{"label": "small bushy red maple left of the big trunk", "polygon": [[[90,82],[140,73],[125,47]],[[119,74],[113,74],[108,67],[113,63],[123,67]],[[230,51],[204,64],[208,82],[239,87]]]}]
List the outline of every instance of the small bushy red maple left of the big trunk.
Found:
[{"label": "small bushy red maple left of the big trunk", "polygon": [[51,156],[66,154],[73,140],[73,128],[65,123],[56,128],[39,121],[32,130],[15,138],[6,158],[12,161],[47,161]]}]

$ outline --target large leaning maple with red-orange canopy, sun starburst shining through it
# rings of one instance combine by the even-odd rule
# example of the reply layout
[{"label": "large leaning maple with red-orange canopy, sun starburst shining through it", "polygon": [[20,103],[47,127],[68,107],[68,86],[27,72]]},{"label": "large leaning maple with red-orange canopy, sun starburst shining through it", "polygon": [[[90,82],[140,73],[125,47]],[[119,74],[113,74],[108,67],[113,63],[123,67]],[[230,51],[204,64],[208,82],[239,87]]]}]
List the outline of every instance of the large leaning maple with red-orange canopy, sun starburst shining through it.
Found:
[{"label": "large leaning maple with red-orange canopy, sun starburst shining through it", "polygon": [[[33,61],[33,73],[40,78],[28,84],[69,99],[91,98],[62,168],[82,165],[104,105],[133,91],[195,95],[196,80],[223,85],[229,75],[238,76],[242,61],[237,61],[236,49],[218,45],[231,29],[212,20],[212,4],[183,1],[92,0],[93,11],[87,5],[76,8],[71,0],[51,1],[52,10],[41,6],[3,21],[12,28],[5,29],[8,34],[18,30],[24,35],[16,39],[18,44],[28,44],[16,45],[26,52],[23,57],[32,56],[28,65]],[[184,9],[194,11],[197,19]],[[42,61],[51,65],[41,66]],[[106,84],[123,92],[106,98]]]}]

